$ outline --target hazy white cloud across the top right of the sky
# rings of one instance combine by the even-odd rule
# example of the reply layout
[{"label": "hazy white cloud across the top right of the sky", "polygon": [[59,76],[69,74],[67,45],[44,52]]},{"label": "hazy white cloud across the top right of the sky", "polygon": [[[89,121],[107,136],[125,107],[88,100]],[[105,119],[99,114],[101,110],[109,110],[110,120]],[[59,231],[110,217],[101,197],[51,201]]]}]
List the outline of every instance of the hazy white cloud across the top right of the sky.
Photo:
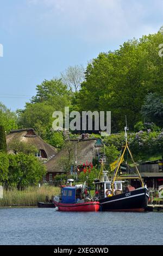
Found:
[{"label": "hazy white cloud across the top right of the sky", "polygon": [[[145,1],[146,2],[146,1]],[[42,7],[37,19],[49,31],[75,34],[87,42],[117,38],[131,39],[156,32],[158,26],[147,20],[148,5],[133,0],[28,0]],[[158,0],[160,3],[160,0]],[[156,4],[154,4],[156,8]],[[160,25],[161,26],[161,25]],[[43,28],[42,27],[42,28]]]}]

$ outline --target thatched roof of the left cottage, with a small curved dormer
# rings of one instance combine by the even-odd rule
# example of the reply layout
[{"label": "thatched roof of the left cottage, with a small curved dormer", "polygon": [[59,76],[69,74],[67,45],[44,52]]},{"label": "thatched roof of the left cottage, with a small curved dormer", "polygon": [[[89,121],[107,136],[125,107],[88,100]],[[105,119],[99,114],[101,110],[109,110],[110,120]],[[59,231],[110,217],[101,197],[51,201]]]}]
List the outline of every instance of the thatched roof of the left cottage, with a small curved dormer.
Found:
[{"label": "thatched roof of the left cottage, with a small curved dormer", "polygon": [[32,128],[12,130],[7,136],[7,145],[9,146],[10,142],[14,141],[28,143],[34,145],[38,150],[44,150],[47,154],[47,158],[51,158],[57,154],[57,149],[44,142]]}]

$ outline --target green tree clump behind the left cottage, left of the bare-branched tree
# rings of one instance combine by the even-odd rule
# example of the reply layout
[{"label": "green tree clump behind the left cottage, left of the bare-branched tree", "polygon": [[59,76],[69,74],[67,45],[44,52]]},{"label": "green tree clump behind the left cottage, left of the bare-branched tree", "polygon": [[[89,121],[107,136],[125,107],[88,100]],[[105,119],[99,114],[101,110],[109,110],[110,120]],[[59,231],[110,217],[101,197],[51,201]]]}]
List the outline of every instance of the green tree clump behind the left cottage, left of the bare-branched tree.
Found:
[{"label": "green tree clump behind the left cottage, left of the bare-branched tree", "polygon": [[36,87],[36,96],[32,97],[31,103],[26,103],[24,109],[17,111],[18,125],[32,127],[41,138],[48,140],[52,135],[53,112],[64,113],[70,102],[70,92],[61,80],[45,80]]}]

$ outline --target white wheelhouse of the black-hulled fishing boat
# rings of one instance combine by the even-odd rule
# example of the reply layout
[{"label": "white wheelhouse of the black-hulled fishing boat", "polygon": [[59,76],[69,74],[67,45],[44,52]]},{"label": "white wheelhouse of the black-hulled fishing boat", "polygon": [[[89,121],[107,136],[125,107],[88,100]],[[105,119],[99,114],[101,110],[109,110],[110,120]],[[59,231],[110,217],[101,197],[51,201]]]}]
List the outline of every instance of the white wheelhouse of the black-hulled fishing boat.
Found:
[{"label": "white wheelhouse of the black-hulled fishing boat", "polygon": [[[124,181],[114,182],[114,193],[121,194],[123,191],[122,184]],[[99,199],[111,196],[111,181],[99,181],[95,180],[95,197]]]}]

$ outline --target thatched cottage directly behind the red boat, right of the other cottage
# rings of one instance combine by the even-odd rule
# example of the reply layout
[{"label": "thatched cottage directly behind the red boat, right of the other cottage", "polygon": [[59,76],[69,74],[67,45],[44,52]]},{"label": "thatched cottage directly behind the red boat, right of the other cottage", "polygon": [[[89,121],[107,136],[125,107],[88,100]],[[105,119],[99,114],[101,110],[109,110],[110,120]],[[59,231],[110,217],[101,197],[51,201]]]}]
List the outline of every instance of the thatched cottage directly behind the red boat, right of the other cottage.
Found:
[{"label": "thatched cottage directly behind the red boat, right of the other cottage", "polygon": [[[100,148],[103,146],[101,139],[86,138],[80,140],[70,140],[57,155],[45,163],[48,174],[44,181],[52,181],[57,174],[63,174],[65,162],[70,161],[73,165],[80,167],[90,166],[98,156]],[[67,171],[70,172],[70,169]],[[51,180],[49,180],[51,178]]]}]

